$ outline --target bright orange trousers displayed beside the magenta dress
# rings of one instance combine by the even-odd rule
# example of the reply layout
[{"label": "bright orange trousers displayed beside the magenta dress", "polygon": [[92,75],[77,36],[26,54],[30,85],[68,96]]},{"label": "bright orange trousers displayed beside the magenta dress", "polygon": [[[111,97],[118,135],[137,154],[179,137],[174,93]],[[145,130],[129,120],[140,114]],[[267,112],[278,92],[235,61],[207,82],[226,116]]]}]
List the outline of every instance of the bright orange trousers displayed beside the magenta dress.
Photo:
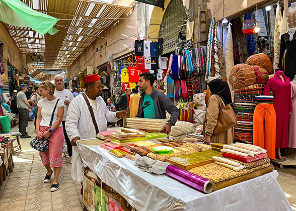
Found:
[{"label": "bright orange trousers displayed beside the magenta dress", "polygon": [[267,150],[268,158],[275,159],[276,119],[273,104],[259,103],[254,111],[253,144]]}]

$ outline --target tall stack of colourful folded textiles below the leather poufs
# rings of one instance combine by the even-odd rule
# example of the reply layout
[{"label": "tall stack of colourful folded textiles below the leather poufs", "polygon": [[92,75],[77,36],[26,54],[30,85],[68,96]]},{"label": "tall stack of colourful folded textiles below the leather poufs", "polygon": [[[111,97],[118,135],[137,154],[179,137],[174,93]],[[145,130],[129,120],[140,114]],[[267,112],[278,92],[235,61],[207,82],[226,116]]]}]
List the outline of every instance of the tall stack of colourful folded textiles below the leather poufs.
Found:
[{"label": "tall stack of colourful folded textiles below the leather poufs", "polygon": [[234,140],[253,143],[253,114],[256,98],[263,94],[261,86],[237,89],[235,92],[234,111],[238,124],[234,127]]}]

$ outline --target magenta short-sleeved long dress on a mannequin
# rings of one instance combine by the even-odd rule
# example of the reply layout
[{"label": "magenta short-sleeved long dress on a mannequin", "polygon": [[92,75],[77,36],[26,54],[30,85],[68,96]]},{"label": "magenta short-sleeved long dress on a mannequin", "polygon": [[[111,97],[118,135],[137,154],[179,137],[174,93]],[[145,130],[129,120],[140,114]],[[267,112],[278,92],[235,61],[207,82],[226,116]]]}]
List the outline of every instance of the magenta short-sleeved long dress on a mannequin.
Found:
[{"label": "magenta short-sleeved long dress on a mannequin", "polygon": [[[283,76],[284,82],[280,75]],[[263,94],[269,95],[269,91],[273,92],[273,105],[276,114],[275,148],[288,147],[289,112],[292,111],[291,84],[290,79],[284,75],[283,71],[278,70],[267,81]]]}]

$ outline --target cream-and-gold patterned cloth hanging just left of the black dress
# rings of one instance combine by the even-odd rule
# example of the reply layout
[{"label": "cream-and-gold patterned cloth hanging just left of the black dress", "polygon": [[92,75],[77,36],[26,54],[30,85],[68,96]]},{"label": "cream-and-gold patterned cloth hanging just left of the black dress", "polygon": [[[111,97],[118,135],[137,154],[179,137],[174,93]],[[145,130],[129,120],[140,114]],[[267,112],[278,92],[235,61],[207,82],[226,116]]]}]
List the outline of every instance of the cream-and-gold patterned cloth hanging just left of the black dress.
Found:
[{"label": "cream-and-gold patterned cloth hanging just left of the black dress", "polygon": [[281,31],[281,11],[279,4],[276,6],[275,13],[275,27],[274,27],[274,46],[273,46],[273,70],[277,69],[279,63],[279,53],[280,53],[280,31]]}]

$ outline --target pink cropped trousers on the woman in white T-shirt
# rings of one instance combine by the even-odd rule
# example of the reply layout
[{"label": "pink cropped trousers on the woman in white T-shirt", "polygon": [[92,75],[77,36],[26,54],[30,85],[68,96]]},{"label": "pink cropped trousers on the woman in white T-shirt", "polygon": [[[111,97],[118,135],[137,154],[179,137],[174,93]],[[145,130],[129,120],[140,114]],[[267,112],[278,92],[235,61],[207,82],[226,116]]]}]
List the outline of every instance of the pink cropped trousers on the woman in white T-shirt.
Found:
[{"label": "pink cropped trousers on the woman in white T-shirt", "polygon": [[[49,127],[40,126],[40,131],[48,131]],[[50,164],[50,168],[61,167],[62,148],[64,144],[63,127],[58,127],[49,136],[48,149],[45,152],[39,152],[43,165]]]}]

